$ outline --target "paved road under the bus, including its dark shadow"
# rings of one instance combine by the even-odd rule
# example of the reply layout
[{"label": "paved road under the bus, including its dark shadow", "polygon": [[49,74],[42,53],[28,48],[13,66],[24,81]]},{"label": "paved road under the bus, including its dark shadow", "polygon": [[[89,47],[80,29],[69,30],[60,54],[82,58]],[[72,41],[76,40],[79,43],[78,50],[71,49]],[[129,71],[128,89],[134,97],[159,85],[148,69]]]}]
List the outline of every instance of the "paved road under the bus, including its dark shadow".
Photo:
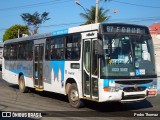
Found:
[{"label": "paved road under the bus, including its dark shadow", "polygon": [[[17,85],[12,85],[0,79],[0,111],[25,111],[43,113],[42,120],[130,120],[130,119],[158,119],[157,117],[132,117],[134,113],[142,113],[143,111],[149,112],[160,111],[160,95],[154,98],[135,103],[101,103],[86,101],[86,107],[75,109],[70,107],[68,100],[65,96],[51,93],[51,92],[37,92],[33,89],[29,93],[20,93]],[[47,112],[51,111],[51,112]],[[60,111],[60,112],[57,112]],[[66,112],[63,112],[66,111]],[[134,112],[129,112],[134,111]],[[159,112],[160,114],[160,112]],[[50,116],[50,117],[46,117]],[[52,117],[51,117],[52,116]],[[61,117],[59,117],[61,116]],[[74,116],[74,117],[73,117]],[[87,117],[88,116],[88,117]],[[99,117],[96,117],[99,116]],[[113,117],[117,116],[117,117]],[[123,117],[126,116],[126,117]],[[132,117],[132,118],[131,118]],[[160,118],[160,117],[159,117]],[[0,118],[2,119],[2,118]],[[4,119],[4,118],[3,118]],[[2,120],[3,120],[2,119]],[[12,118],[14,119],[27,119],[31,118]],[[12,120],[11,119],[11,120]],[[4,119],[8,120],[8,119]]]}]

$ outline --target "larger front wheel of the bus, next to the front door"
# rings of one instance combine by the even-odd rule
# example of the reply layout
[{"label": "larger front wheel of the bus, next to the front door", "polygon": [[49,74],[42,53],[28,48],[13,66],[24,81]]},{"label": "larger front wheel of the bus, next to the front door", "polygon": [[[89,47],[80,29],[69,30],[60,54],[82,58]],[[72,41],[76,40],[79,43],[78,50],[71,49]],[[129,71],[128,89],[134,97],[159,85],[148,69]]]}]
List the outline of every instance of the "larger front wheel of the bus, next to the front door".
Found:
[{"label": "larger front wheel of the bus, next to the front door", "polygon": [[79,98],[77,85],[75,83],[72,83],[69,88],[68,100],[71,106],[75,108],[80,108],[84,105],[82,100]]}]

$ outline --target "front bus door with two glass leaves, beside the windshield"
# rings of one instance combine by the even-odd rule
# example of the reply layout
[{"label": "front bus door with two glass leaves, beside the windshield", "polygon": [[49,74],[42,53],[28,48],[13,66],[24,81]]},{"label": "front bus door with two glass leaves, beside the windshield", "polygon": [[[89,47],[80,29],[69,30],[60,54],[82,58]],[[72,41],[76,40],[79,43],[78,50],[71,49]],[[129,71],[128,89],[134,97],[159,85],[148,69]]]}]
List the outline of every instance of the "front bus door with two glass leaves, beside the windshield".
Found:
[{"label": "front bus door with two glass leaves, beside the windshield", "polygon": [[98,98],[98,55],[96,39],[84,40],[83,46],[83,93],[87,98]]}]

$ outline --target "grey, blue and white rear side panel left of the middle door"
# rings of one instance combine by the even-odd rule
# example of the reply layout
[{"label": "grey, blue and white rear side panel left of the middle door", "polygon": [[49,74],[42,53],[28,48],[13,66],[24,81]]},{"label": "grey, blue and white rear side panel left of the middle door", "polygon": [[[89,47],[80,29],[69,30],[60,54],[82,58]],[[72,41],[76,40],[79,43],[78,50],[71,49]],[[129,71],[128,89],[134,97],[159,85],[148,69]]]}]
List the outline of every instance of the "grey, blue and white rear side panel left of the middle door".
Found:
[{"label": "grey, blue and white rear side panel left of the middle door", "polygon": [[22,73],[25,78],[25,84],[28,87],[33,87],[33,62],[25,61],[5,61],[3,69],[3,77],[9,83],[18,84],[19,74]]}]

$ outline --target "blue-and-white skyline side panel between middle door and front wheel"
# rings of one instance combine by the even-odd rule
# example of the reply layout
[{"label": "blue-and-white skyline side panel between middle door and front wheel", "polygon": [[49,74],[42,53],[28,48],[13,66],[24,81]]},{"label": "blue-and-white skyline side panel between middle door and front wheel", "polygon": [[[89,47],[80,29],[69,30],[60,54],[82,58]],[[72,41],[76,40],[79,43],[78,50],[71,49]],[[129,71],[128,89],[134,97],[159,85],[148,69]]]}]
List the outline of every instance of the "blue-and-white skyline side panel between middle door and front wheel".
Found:
[{"label": "blue-and-white skyline side panel between middle door and front wheel", "polygon": [[[64,61],[46,61],[43,64],[44,90],[64,93]],[[50,87],[49,87],[50,86]]]}]

